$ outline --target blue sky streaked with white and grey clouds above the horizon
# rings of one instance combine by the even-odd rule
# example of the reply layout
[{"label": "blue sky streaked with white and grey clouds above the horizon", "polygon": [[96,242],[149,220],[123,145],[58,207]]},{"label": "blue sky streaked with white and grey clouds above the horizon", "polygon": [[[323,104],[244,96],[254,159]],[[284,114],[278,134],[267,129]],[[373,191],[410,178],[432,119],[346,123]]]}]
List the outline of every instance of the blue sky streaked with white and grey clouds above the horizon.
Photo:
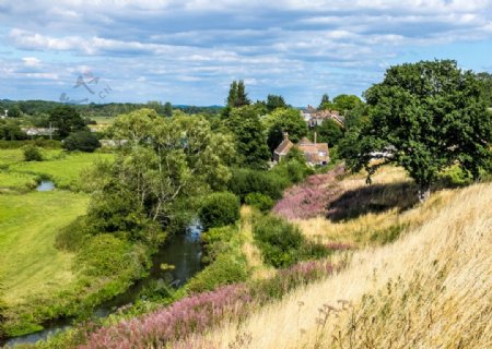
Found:
[{"label": "blue sky streaked with white and grey clouds above the horizon", "polygon": [[433,59],[492,72],[492,0],[0,0],[0,99],[318,105]]}]

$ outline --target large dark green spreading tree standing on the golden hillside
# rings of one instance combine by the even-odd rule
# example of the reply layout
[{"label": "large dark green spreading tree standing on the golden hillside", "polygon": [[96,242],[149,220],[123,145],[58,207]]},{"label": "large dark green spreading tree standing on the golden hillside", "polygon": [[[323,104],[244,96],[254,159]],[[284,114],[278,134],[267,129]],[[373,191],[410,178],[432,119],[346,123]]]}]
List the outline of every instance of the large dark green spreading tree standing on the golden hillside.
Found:
[{"label": "large dark green spreading tree standing on the golden hillside", "polygon": [[492,122],[481,84],[455,61],[391,67],[365,97],[370,120],[354,136],[348,165],[355,171],[365,167],[368,180],[382,165],[371,165],[372,153],[390,153],[383,163],[405,167],[424,200],[438,172],[455,161],[478,178],[491,158]]}]

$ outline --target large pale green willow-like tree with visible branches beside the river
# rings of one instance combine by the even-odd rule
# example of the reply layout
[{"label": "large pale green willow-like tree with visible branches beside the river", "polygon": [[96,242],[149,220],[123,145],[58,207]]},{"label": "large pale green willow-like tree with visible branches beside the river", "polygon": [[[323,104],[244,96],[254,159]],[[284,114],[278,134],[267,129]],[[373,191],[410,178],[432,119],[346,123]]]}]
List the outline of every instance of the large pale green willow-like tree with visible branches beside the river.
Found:
[{"label": "large pale green willow-like tree with visible branches beside the river", "polygon": [[172,224],[180,203],[225,188],[230,178],[233,143],[201,117],[160,118],[140,109],[118,117],[110,133],[119,144],[116,160],[89,210],[98,230],[148,239],[149,227]]}]

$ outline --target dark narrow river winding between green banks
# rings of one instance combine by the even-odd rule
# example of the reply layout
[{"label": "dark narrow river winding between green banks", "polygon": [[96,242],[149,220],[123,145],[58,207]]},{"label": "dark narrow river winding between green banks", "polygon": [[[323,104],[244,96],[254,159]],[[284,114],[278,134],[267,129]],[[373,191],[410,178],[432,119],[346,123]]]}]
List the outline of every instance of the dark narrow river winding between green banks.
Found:
[{"label": "dark narrow river winding between green banks", "polygon": [[[94,310],[94,316],[105,317],[116,312],[118,308],[132,303],[139,292],[152,281],[165,280],[175,288],[183,286],[203,267],[201,263],[200,234],[201,227],[191,225],[186,230],[186,233],[171,237],[152,257],[152,268],[149,276],[137,281],[124,293],[101,304]],[[174,268],[162,268],[163,264],[173,265]],[[2,346],[8,348],[21,344],[34,344],[37,340],[46,339],[48,336],[69,328],[71,323],[71,318],[54,320],[44,324],[45,329],[42,332],[3,340],[0,338],[0,348]]]}]

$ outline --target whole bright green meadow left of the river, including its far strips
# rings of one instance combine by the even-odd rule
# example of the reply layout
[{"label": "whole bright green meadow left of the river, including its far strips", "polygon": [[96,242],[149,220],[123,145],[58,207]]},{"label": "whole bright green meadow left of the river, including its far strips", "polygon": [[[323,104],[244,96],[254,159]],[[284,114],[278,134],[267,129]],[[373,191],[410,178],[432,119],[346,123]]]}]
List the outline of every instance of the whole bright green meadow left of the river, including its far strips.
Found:
[{"label": "whole bright green meadow left of the river, including its far strips", "polygon": [[[22,148],[0,149],[0,297],[12,324],[4,328],[9,335],[39,329],[35,318],[49,315],[39,315],[38,308],[55,306],[60,292],[77,288],[75,254],[57,249],[55,241],[61,228],[86,213],[90,195],[79,191],[84,170],[113,158],[40,152],[43,161],[25,161]],[[40,180],[54,181],[56,189],[36,191]]]}]

